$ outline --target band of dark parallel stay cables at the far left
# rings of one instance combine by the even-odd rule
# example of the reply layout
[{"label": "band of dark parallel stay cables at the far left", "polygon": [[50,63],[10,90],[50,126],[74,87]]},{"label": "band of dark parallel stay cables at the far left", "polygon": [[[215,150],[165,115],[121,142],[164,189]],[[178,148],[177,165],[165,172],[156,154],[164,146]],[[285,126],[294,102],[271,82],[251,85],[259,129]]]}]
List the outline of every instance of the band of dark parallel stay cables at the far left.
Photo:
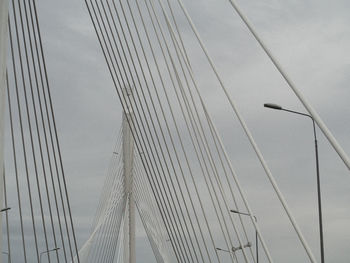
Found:
[{"label": "band of dark parallel stay cables at the far left", "polygon": [[[10,1],[5,23],[4,250],[8,262],[79,262],[36,5],[34,0]],[[8,185],[15,191],[7,191]]]}]

